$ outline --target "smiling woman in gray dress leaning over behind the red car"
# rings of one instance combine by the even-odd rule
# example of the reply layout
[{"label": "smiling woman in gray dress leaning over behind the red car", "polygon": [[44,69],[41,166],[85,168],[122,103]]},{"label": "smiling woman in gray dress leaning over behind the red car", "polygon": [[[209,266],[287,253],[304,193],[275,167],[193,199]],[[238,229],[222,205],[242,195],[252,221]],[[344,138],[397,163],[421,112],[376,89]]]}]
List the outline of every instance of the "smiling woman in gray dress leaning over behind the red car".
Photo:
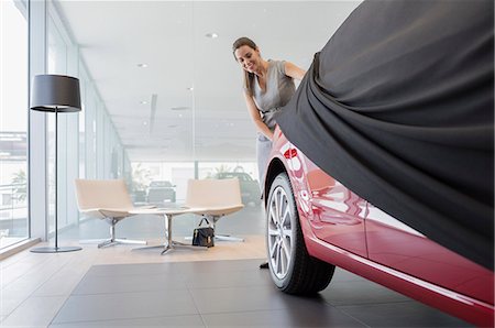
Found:
[{"label": "smiling woman in gray dress leaning over behind the red car", "polygon": [[[249,37],[238,39],[232,52],[244,72],[245,105],[258,132],[256,156],[262,187],[276,125],[274,114],[296,91],[294,79],[302,79],[306,72],[289,62],[263,59],[260,48]],[[260,267],[267,269],[268,263],[262,263]]]}]

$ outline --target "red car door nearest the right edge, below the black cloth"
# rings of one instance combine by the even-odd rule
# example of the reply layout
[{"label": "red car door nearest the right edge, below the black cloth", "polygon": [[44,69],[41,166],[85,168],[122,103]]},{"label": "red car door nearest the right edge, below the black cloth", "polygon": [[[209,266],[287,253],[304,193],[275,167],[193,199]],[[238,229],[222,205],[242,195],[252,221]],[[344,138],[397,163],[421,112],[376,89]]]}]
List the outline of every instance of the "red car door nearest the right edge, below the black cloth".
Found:
[{"label": "red car door nearest the right edge, below the black cloth", "polygon": [[[493,304],[493,273],[366,203],[370,260]],[[462,237],[461,237],[462,238]]]}]

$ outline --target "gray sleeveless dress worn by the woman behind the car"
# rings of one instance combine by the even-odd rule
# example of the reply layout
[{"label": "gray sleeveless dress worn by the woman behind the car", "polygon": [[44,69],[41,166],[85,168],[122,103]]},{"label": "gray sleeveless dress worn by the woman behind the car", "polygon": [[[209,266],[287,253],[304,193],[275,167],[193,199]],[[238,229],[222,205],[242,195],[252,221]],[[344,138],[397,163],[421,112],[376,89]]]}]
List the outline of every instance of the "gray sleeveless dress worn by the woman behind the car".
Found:
[{"label": "gray sleeveless dress worn by the woman behind the car", "polygon": [[[263,92],[257,79],[253,84],[253,99],[262,114],[263,122],[273,131],[276,122],[274,114],[284,107],[296,91],[296,85],[292,77],[285,75],[284,61],[268,59],[266,74],[266,91]],[[257,133],[256,156],[260,186],[264,184],[265,168],[268,155],[272,151],[272,141],[262,133]]]}]

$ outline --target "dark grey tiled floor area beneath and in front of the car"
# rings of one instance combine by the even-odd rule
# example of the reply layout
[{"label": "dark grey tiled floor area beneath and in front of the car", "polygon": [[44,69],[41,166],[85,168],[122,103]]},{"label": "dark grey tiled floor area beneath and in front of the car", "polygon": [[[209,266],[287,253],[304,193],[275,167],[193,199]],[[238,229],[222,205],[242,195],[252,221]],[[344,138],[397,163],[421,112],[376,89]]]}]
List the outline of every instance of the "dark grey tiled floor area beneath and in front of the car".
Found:
[{"label": "dark grey tiled floor area beneath and in front of the car", "polygon": [[[466,324],[338,271],[318,297],[285,295],[258,260],[92,266],[52,327],[461,327]],[[362,295],[341,297],[354,284]],[[356,289],[354,287],[354,289]]]}]

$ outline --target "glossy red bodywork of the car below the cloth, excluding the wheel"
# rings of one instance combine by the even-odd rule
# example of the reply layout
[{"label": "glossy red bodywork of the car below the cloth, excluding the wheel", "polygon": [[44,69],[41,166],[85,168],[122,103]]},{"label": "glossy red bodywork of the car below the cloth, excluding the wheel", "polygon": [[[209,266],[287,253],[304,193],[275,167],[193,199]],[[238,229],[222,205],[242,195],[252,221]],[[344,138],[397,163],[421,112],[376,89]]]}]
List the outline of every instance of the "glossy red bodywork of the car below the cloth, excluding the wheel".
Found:
[{"label": "glossy red bodywork of the car below the cloth, excluding the wheel", "polygon": [[271,182],[286,172],[311,256],[477,326],[493,326],[492,271],[437,244],[346,189],[292,145],[278,128],[273,144],[265,199]]}]

